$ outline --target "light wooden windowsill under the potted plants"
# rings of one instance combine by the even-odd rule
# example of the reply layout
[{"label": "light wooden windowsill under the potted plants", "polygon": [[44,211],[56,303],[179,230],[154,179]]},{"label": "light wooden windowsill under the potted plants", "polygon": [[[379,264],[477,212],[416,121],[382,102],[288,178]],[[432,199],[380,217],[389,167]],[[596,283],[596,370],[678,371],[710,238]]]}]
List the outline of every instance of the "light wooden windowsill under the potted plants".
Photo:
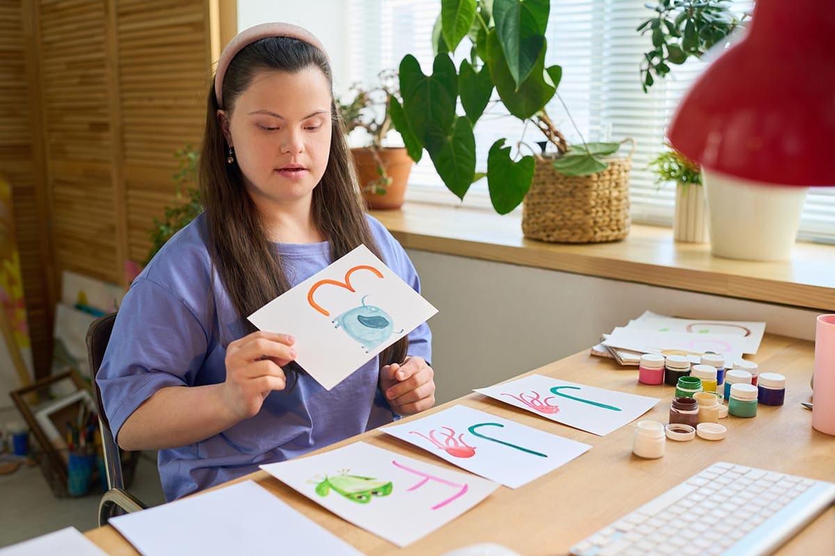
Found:
[{"label": "light wooden windowsill under the potted plants", "polygon": [[790,260],[757,263],[715,257],[707,243],[676,243],[670,228],[638,224],[620,242],[573,245],[524,238],[519,214],[412,202],[372,215],[407,249],[835,309],[835,247],[829,245],[797,242]]}]

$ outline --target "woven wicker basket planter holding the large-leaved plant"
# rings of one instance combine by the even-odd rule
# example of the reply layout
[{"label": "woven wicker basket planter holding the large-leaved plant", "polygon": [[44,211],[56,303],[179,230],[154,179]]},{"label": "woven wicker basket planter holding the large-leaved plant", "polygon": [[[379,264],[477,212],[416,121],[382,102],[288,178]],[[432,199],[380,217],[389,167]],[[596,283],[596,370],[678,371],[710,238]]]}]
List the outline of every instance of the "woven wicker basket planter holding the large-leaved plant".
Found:
[{"label": "woven wicker basket planter holding the large-leaved plant", "polygon": [[632,157],[607,159],[590,176],[565,176],[537,158],[534,182],[524,198],[522,232],[553,243],[601,243],[626,237],[630,228]]}]

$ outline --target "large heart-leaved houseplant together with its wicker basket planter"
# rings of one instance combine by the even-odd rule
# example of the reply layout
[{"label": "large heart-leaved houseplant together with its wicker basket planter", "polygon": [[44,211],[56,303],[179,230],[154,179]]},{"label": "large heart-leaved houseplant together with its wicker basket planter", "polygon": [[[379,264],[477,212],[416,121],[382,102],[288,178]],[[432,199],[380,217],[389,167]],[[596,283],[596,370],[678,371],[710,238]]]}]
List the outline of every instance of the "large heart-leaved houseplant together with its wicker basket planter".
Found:
[{"label": "large heart-leaved houseplant together with its wicker basket planter", "polygon": [[[562,77],[559,66],[544,64],[549,9],[548,0],[444,0],[433,33],[433,73],[424,75],[411,54],[402,58],[402,104],[392,99],[392,123],[412,159],[419,161],[426,149],[458,198],[486,176],[497,213],[509,213],[525,199],[526,236],[577,243],[620,239],[629,229],[630,158],[603,159],[620,143],[569,145],[545,110]],[[471,44],[469,57],[456,68],[450,53],[465,38]],[[511,158],[511,146],[497,138],[489,148],[487,172],[477,173],[473,127],[488,106],[504,107],[514,118],[534,124],[554,146],[554,158],[521,153]],[[580,183],[589,185],[590,193],[579,193]],[[576,206],[564,210],[565,203]],[[604,214],[600,222],[595,213]],[[557,228],[545,230],[545,225]]]}]

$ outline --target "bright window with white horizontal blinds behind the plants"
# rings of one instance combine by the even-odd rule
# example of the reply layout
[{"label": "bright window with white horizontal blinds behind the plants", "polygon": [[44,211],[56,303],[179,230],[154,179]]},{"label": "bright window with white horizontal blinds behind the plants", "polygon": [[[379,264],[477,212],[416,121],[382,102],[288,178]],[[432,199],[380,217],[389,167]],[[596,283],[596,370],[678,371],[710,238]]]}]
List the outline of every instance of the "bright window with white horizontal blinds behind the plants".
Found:
[{"label": "bright window with white horizontal blinds behind the plants", "polygon": [[[431,72],[430,38],[440,12],[439,0],[348,2],[352,81],[372,83],[382,69],[397,68],[407,53],[420,61],[424,73]],[[735,3],[736,13],[750,8],[751,2]],[[647,165],[662,148],[665,125],[676,104],[706,62],[689,60],[644,93],[639,63],[650,38],[635,28],[649,16],[650,11],[635,0],[552,0],[546,65],[562,66],[563,79],[557,89],[559,98],[549,103],[548,113],[569,142],[578,142],[580,134],[587,141],[634,139],[630,177],[633,219],[669,224],[675,188],[671,184],[656,186]],[[375,33],[367,33],[368,29],[375,29]],[[514,144],[521,138],[526,145],[538,148],[535,142],[541,135],[533,126],[525,129],[515,118],[498,113],[483,120],[475,129],[476,143],[483,150],[478,153],[477,169],[486,167],[487,149],[495,138],[507,137],[508,143]],[[412,170],[408,198],[458,202],[443,187],[426,155]],[[490,206],[486,180],[473,184],[464,204]],[[835,188],[810,189],[800,237],[835,243]]]}]

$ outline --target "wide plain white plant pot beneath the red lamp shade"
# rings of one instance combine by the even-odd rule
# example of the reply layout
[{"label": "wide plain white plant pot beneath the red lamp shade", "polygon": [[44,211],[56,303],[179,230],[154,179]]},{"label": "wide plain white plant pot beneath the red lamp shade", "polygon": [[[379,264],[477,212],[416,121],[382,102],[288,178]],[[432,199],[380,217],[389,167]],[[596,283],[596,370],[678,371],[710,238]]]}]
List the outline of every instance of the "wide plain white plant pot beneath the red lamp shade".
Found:
[{"label": "wide plain white plant pot beneath the red lamp shade", "polygon": [[751,261],[791,256],[808,188],[751,182],[705,168],[701,175],[713,254]]}]

